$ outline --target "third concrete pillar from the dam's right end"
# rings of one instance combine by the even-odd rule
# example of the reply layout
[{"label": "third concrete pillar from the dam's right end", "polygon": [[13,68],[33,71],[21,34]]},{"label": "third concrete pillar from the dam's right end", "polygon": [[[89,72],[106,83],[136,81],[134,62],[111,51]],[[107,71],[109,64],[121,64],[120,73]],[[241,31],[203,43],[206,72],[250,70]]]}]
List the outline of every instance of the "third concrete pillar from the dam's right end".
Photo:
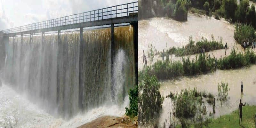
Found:
[{"label": "third concrete pillar from the dam's right end", "polygon": [[84,72],[84,54],[85,54],[85,43],[83,42],[83,28],[80,28],[80,40],[79,40],[79,108],[84,110],[84,79],[85,79],[85,72]]}]

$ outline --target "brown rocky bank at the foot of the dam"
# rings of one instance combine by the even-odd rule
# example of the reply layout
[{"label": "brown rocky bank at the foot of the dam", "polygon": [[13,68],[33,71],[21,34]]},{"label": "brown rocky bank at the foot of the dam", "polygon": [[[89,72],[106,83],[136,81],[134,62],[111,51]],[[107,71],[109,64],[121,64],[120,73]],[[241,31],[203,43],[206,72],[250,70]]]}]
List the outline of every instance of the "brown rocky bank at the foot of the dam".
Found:
[{"label": "brown rocky bank at the foot of the dam", "polygon": [[129,118],[129,116],[116,117],[116,116],[101,116],[91,122],[83,124],[77,128],[137,128],[138,116]]}]

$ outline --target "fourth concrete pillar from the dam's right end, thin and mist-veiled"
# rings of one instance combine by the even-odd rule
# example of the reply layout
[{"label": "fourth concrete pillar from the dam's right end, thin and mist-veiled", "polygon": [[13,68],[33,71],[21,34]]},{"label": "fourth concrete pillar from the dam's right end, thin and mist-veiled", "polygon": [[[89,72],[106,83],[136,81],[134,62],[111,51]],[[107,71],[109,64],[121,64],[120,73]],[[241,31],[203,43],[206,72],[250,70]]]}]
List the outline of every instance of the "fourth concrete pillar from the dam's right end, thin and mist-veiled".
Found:
[{"label": "fourth concrete pillar from the dam's right end, thin and mist-veiled", "polygon": [[58,30],[58,46],[57,46],[57,104],[59,104],[60,100],[60,30]]}]

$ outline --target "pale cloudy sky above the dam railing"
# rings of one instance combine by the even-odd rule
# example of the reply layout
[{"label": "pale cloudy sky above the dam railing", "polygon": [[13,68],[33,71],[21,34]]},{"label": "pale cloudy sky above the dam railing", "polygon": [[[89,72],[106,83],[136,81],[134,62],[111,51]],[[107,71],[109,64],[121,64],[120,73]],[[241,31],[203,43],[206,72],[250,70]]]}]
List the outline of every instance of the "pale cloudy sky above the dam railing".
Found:
[{"label": "pale cloudy sky above the dam railing", "polygon": [[137,0],[0,0],[0,31]]}]

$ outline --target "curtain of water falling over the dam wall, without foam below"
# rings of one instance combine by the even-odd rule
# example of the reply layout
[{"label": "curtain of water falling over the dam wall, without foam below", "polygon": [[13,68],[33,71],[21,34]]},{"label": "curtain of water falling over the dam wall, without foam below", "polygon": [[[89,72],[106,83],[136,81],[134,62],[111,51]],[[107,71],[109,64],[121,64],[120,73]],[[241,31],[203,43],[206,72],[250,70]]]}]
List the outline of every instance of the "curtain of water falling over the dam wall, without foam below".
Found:
[{"label": "curtain of water falling over the dam wall, without foam below", "polygon": [[[86,30],[83,33],[85,55],[82,72],[85,77],[82,88],[79,88],[77,32],[61,33],[59,46],[56,34],[45,35],[44,40],[41,35],[35,35],[31,41],[29,36],[24,36],[22,44],[20,37],[15,40],[10,37],[9,42],[4,43],[6,64],[1,69],[1,78],[4,84],[25,94],[30,101],[54,117],[70,119],[78,113],[101,106],[126,107],[122,104],[127,100],[128,90],[135,84],[133,28],[116,27],[114,35],[113,89],[110,79],[110,28]],[[81,101],[79,90],[83,92]],[[115,95],[114,99],[112,94]],[[83,108],[79,108],[79,104]]]}]

